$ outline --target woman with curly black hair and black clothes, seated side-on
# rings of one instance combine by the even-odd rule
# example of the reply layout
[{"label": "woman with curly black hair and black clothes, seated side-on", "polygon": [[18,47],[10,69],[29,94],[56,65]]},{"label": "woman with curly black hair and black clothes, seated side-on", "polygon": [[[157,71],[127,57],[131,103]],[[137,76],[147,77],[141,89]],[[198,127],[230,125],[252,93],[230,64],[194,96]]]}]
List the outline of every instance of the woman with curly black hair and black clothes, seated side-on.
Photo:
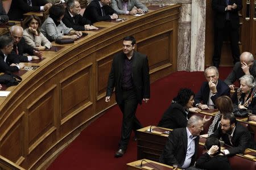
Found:
[{"label": "woman with curly black hair and black clothes, seated side-on", "polygon": [[172,100],[170,107],[164,112],[158,126],[168,129],[186,127],[189,111],[201,111],[199,108],[192,108],[195,103],[194,96],[194,92],[190,89],[181,89]]}]

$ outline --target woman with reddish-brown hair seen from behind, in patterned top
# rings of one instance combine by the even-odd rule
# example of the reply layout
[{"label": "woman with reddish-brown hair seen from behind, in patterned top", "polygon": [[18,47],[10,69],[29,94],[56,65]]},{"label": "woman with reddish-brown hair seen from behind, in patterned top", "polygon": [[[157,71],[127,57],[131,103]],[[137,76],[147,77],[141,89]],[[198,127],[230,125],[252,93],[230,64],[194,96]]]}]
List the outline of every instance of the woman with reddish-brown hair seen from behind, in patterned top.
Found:
[{"label": "woman with reddish-brown hair seen from behind, in patterned top", "polygon": [[220,96],[215,100],[218,113],[214,117],[212,124],[209,126],[208,135],[212,135],[214,131],[220,126],[221,116],[226,113],[232,113],[233,103],[229,96]]}]

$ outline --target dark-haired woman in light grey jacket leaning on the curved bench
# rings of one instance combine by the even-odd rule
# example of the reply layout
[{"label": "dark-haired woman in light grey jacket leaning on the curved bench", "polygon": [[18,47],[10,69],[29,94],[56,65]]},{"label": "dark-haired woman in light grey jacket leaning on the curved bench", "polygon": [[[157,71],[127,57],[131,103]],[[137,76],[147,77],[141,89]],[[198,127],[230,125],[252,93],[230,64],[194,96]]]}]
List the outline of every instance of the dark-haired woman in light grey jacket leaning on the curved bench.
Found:
[{"label": "dark-haired woman in light grey jacket leaning on the curved bench", "polygon": [[73,28],[68,28],[61,21],[65,14],[65,8],[63,5],[53,5],[49,9],[49,16],[44,21],[41,27],[41,32],[47,37],[49,41],[55,41],[57,39],[73,39],[82,36],[81,31],[75,31]]}]

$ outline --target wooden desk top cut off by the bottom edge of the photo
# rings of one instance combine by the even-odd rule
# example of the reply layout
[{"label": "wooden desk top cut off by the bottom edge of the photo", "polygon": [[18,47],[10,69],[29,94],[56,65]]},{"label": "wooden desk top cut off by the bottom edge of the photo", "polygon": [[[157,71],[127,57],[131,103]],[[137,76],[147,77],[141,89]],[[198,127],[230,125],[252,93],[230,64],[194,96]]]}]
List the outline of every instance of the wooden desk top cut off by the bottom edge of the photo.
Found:
[{"label": "wooden desk top cut off by the bottom edge of the photo", "polygon": [[[137,160],[135,162],[131,162],[126,164],[127,165],[127,170],[137,170],[137,169],[143,169],[141,167],[139,167],[142,163],[142,166],[147,166],[150,168],[157,168],[159,170],[171,170],[174,169],[174,167],[166,165],[166,164],[162,164],[159,162],[154,162],[152,160],[148,160],[148,159],[142,159],[142,160]],[[179,168],[177,168],[179,169]]]}]

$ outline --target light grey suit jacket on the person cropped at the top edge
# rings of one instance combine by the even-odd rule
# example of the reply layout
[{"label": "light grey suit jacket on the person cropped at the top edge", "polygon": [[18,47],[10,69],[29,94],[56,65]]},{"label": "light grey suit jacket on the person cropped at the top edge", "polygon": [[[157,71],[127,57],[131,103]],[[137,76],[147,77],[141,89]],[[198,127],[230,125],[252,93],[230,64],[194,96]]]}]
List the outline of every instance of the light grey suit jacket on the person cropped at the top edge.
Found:
[{"label": "light grey suit jacket on the person cropped at the top edge", "polygon": [[[112,0],[111,6],[117,14],[125,14],[126,11],[123,10],[123,0]],[[127,10],[131,11],[133,7],[141,8],[143,11],[147,12],[148,8],[144,6],[139,0],[129,0]]]}]

